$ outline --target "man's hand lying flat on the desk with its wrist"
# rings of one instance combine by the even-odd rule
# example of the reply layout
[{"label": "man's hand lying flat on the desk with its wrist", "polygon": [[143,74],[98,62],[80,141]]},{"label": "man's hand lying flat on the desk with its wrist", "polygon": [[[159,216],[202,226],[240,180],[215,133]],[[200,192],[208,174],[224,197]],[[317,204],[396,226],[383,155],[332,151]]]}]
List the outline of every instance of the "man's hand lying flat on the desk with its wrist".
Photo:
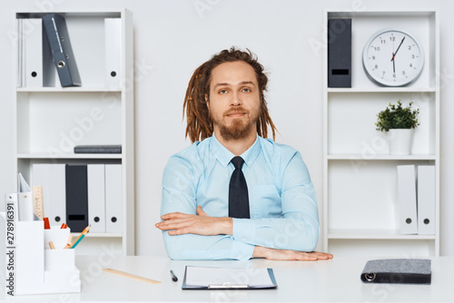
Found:
[{"label": "man's hand lying flat on the desk with its wrist", "polygon": [[261,246],[256,246],[252,257],[266,259],[281,259],[281,260],[300,260],[300,261],[316,261],[318,259],[332,259],[332,255],[325,252],[304,252],[286,249],[268,249]]}]

